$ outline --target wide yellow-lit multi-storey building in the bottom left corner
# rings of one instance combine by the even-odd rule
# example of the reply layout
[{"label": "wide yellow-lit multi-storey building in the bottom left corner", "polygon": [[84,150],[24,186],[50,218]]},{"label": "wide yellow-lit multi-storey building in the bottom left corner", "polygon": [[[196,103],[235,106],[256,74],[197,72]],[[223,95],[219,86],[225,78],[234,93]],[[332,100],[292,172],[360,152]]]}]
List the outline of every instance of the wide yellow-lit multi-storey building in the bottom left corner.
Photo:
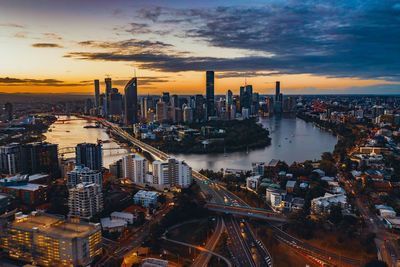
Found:
[{"label": "wide yellow-lit multi-storey building in the bottom left corner", "polygon": [[1,241],[10,257],[41,266],[88,266],[102,252],[99,224],[40,212],[17,213]]}]

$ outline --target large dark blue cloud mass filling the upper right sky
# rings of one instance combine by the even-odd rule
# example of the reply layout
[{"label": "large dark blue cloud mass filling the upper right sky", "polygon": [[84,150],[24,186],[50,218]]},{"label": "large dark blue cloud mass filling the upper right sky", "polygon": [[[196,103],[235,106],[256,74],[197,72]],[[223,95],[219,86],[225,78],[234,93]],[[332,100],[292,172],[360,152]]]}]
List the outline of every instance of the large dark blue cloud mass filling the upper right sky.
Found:
[{"label": "large dark blue cloud mass filling the upper right sky", "polygon": [[[209,48],[233,48],[271,56],[236,59],[170,57],[188,70],[213,66],[222,71],[274,71],[329,77],[400,80],[400,8],[398,1],[272,1],[258,6],[140,11],[142,21],[158,28],[175,27],[182,38]],[[139,55],[87,55],[98,60],[137,59]],[[159,56],[159,55],[158,55]],[[162,58],[165,58],[162,57]],[[149,58],[147,56],[147,58]],[[252,62],[253,61],[253,62]],[[244,63],[242,67],[232,63]],[[259,64],[257,67],[256,64]],[[166,61],[145,64],[172,68]],[[246,69],[249,67],[249,69]]]}]

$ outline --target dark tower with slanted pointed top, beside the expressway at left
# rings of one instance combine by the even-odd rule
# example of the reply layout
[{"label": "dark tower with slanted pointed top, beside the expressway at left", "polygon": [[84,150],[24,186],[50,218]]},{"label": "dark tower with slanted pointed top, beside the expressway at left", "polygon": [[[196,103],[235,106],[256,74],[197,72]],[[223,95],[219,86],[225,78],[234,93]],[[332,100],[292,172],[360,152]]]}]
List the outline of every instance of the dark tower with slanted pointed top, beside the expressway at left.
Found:
[{"label": "dark tower with slanted pointed top, beside the expressway at left", "polygon": [[137,78],[134,77],[125,86],[125,125],[137,123],[137,113]]}]

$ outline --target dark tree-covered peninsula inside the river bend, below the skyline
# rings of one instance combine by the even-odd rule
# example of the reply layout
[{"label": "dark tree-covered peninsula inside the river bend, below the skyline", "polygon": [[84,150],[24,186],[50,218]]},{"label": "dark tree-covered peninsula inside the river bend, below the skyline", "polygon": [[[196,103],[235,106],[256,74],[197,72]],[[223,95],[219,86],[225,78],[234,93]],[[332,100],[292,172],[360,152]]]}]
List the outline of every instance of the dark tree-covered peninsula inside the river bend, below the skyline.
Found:
[{"label": "dark tree-covered peninsula inside the river bend, below the skyline", "polygon": [[209,121],[190,124],[198,134],[185,135],[179,139],[143,140],[166,153],[209,154],[248,151],[271,144],[269,131],[255,119],[232,121]]}]

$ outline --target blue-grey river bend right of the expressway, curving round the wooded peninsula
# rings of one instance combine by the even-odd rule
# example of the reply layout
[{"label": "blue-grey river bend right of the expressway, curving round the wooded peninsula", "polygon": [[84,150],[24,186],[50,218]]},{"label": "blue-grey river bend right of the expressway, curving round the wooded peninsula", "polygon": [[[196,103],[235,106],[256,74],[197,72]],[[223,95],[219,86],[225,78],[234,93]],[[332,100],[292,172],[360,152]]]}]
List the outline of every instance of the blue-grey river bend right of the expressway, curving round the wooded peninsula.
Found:
[{"label": "blue-grey river bend right of the expressway, curving round the wooded peninsula", "polygon": [[252,162],[269,162],[279,159],[291,164],[294,161],[319,159],[323,152],[332,152],[337,137],[299,118],[260,118],[259,123],[270,131],[271,145],[247,152],[222,154],[176,154],[194,169],[221,168],[251,169]]}]

